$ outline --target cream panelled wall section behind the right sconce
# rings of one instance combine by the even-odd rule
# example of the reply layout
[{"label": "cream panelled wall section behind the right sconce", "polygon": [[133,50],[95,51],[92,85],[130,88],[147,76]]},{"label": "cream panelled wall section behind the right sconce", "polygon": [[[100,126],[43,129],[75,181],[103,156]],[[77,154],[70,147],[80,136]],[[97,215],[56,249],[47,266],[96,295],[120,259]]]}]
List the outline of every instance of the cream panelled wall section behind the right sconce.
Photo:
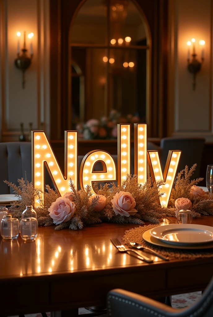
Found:
[{"label": "cream panelled wall section behind the right sconce", "polygon": [[[213,141],[212,130],[212,0],[171,0],[169,3],[169,107],[168,134],[200,136]],[[197,74],[196,90],[187,69],[187,41],[205,40],[204,63]]]}]

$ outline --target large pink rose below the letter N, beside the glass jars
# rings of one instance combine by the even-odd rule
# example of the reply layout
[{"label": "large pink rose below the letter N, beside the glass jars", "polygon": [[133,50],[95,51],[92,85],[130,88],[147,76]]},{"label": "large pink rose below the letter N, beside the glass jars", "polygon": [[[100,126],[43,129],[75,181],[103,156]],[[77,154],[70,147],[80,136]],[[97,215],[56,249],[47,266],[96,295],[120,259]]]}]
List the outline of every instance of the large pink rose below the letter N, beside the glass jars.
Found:
[{"label": "large pink rose below the letter N, beside the glass jars", "polygon": [[49,216],[53,219],[53,223],[59,224],[69,221],[75,212],[75,204],[68,198],[59,197],[49,207]]}]

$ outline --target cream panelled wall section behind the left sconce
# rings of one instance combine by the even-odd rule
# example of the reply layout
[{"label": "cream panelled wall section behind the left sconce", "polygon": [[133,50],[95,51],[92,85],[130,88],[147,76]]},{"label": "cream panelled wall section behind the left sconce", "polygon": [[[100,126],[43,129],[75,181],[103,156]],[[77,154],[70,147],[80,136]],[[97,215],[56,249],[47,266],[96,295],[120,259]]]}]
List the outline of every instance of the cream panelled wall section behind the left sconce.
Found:
[{"label": "cream panelled wall section behind the left sconce", "polygon": [[[3,0],[0,4],[0,61],[1,61],[1,141],[18,140],[20,122],[28,132],[29,122],[38,129],[45,122],[49,132],[49,1]],[[25,73],[25,89],[22,88],[22,72],[14,65],[17,53],[17,31],[26,31],[26,48],[32,39],[32,64]],[[22,53],[22,52],[20,52]]]}]

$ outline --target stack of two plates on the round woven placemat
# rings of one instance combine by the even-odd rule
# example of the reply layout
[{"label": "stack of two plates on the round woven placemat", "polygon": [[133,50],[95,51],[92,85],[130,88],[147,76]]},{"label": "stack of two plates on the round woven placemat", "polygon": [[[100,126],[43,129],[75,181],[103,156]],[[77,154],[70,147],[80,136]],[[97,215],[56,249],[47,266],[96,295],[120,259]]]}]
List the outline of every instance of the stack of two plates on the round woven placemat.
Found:
[{"label": "stack of two plates on the round woven placemat", "polygon": [[213,227],[199,224],[170,224],[147,230],[145,241],[167,248],[213,248]]}]

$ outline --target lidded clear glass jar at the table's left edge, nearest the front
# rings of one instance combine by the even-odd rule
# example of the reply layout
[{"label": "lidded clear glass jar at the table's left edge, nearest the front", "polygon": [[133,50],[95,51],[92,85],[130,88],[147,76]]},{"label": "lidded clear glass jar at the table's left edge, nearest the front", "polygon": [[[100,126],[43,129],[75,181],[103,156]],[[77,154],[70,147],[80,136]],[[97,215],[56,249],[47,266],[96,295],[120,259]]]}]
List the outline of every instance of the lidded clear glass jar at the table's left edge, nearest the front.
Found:
[{"label": "lidded clear glass jar at the table's left edge, nearest the front", "polygon": [[12,215],[4,215],[1,221],[1,236],[3,240],[15,240],[19,234],[19,221]]}]

